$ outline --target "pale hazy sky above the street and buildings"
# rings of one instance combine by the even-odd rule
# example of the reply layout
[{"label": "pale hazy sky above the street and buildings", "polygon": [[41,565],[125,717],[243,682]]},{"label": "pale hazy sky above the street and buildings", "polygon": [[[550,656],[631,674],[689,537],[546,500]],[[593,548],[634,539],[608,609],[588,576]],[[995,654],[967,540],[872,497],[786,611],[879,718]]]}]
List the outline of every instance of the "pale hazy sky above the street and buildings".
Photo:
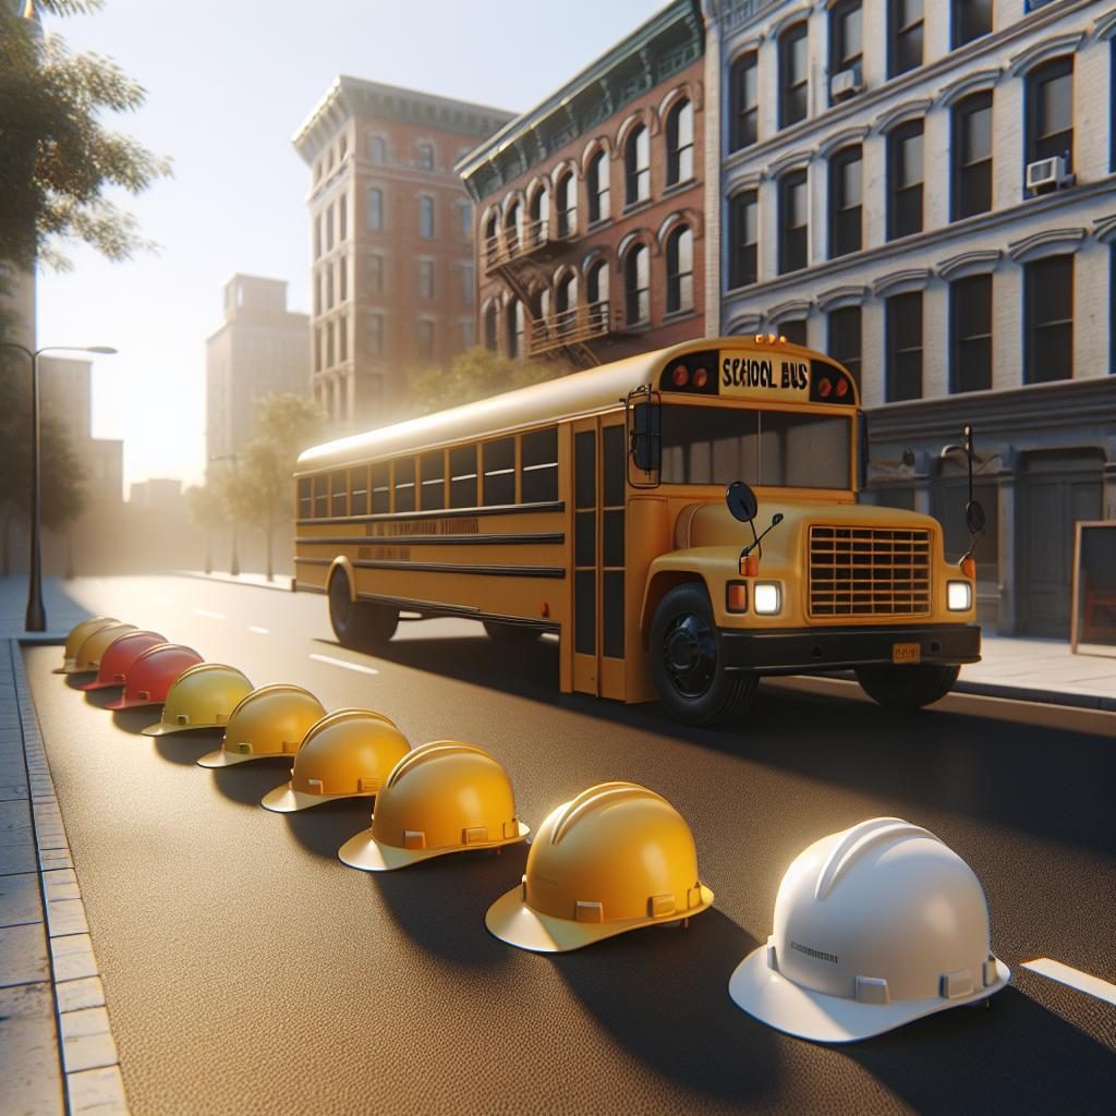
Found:
[{"label": "pale hazy sky above the street and buildings", "polygon": [[[123,203],[157,256],[39,278],[39,345],[112,345],[96,357],[94,435],[122,437],[125,482],[204,471],[205,337],[235,271],[286,279],[309,308],[307,169],[291,145],[338,74],[522,112],[665,0],[107,0],[47,20],[147,89],[106,123],[174,161]],[[543,11],[547,16],[543,17]]]}]

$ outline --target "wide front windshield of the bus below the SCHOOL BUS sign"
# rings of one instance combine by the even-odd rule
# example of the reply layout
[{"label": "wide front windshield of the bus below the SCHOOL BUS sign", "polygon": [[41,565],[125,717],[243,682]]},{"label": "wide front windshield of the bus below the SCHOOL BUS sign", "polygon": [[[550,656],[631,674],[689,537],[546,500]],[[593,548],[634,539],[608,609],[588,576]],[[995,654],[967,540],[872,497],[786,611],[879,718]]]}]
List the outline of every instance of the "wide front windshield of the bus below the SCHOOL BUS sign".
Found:
[{"label": "wide front windshield of the bus below the SCHOOL BUS sign", "polygon": [[848,415],[663,404],[664,484],[847,489]]}]

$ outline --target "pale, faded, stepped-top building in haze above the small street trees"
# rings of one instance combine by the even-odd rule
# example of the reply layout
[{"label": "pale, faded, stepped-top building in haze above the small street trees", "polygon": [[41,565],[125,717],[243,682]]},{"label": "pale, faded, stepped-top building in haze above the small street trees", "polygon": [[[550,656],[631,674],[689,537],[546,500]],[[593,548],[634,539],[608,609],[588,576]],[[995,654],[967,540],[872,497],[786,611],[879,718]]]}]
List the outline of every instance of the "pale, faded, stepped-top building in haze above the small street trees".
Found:
[{"label": "pale, faded, stepped-top building in haze above the small street trees", "polygon": [[205,341],[206,458],[243,451],[267,396],[309,392],[310,319],[287,309],[283,280],[234,275],[224,323]]}]

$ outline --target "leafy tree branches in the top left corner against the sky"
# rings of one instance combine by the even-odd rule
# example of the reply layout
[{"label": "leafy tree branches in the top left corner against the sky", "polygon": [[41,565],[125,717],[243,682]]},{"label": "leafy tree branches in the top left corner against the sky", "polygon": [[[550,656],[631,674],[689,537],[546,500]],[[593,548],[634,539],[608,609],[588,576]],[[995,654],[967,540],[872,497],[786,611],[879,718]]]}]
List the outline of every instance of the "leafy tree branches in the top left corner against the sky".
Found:
[{"label": "leafy tree branches in the top left corner against the sky", "polygon": [[[54,16],[96,11],[102,0],[38,0]],[[112,260],[153,246],[104,191],[146,190],[170,163],[104,127],[104,113],[135,110],[145,92],[110,59],[71,55],[44,38],[22,3],[0,0],[0,260],[65,268],[59,241],[83,240]],[[33,8],[32,8],[33,12]]]}]

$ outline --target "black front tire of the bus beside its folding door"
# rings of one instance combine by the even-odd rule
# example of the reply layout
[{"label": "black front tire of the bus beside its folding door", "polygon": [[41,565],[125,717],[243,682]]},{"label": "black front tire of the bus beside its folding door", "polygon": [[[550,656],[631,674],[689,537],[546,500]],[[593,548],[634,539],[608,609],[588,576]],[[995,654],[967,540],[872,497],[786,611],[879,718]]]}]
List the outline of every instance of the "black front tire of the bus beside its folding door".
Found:
[{"label": "black front tire of the bus beside its folding door", "polygon": [[671,589],[651,625],[650,665],[663,708],[684,724],[716,724],[741,716],[759,675],[721,666],[721,633],[703,585]]}]

